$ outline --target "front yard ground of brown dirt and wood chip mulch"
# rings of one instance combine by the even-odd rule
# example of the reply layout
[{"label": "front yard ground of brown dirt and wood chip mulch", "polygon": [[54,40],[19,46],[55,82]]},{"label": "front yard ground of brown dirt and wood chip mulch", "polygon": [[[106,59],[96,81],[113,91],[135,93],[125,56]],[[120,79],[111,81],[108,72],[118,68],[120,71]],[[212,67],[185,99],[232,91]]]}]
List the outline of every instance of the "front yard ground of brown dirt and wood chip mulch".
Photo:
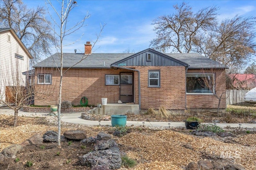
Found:
[{"label": "front yard ground of brown dirt and wood chip mulch", "polygon": [[[138,118],[142,119],[142,118]],[[13,117],[0,115],[0,151],[13,144],[20,144],[35,134],[43,135],[48,130],[57,131],[57,119],[52,117],[19,117],[18,126],[12,127]],[[86,126],[62,123],[62,133],[70,129],[83,129],[87,137],[96,136],[98,132],[113,131],[110,126]],[[234,137],[198,137],[184,128],[160,129],[148,127],[129,127],[130,133],[123,137],[112,136],[119,144],[120,150],[136,160],[132,170],[184,170],[186,165],[198,160],[217,160],[236,163],[248,170],[256,170],[256,129],[226,129]],[[55,170],[90,170],[90,167],[79,164],[79,156],[93,150],[86,145],[82,149],[80,141],[71,145],[62,143],[43,143],[25,147],[15,158],[0,162],[1,170],[21,169],[55,169]],[[42,149],[44,146],[44,149]],[[57,152],[60,155],[57,156]],[[33,162],[31,168],[26,162]],[[121,168],[125,170],[126,168]]]}]

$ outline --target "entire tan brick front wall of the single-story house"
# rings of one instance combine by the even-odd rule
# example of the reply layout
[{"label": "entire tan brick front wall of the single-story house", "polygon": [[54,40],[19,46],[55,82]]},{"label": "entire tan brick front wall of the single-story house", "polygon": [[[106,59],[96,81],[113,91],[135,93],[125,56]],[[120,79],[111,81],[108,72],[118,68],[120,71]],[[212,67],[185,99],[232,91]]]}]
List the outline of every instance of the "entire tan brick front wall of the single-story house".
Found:
[{"label": "entire tan brick front wall of the single-story house", "polygon": [[[158,109],[164,106],[167,109],[185,109],[186,76],[183,66],[140,66],[133,67],[140,70],[141,109],[150,107]],[[160,88],[148,87],[148,70],[160,70]],[[97,105],[101,98],[108,98],[108,103],[117,103],[119,100],[119,85],[105,85],[106,74],[119,75],[120,72],[132,72],[125,69],[70,69],[63,77],[62,101],[69,100],[73,105],[79,105],[82,97],[88,98],[88,104]],[[188,72],[202,72],[201,70],[188,70]],[[38,73],[51,73],[51,85],[35,85],[35,105],[58,104],[59,72],[55,69],[36,69]],[[225,71],[220,70],[215,74],[216,92],[219,95],[226,89],[223,83]],[[134,72],[135,104],[138,102],[138,72]],[[225,95],[225,94],[224,94]],[[213,95],[187,95],[187,107],[192,108],[217,108],[218,99]],[[226,102],[222,100],[221,107],[225,108]]]}]

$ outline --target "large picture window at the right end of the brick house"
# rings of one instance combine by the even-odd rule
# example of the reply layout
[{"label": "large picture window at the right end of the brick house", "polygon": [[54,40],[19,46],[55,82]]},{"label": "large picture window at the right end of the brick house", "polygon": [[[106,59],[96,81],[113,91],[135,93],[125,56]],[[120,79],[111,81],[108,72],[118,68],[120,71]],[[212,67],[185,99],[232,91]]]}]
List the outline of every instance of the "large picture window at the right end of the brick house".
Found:
[{"label": "large picture window at the right end of the brick house", "polygon": [[187,74],[188,94],[212,94],[214,74]]}]

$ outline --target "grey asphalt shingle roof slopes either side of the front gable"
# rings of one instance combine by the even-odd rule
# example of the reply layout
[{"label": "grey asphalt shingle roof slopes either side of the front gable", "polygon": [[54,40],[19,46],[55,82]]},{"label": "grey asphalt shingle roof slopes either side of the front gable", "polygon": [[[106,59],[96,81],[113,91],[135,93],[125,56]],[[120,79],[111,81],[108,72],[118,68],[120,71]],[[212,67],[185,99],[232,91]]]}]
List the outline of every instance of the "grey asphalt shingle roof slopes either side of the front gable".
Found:
[{"label": "grey asphalt shingle roof slopes either side of the front gable", "polygon": [[[74,64],[76,65],[73,68],[110,68],[110,64],[131,55],[133,53],[92,53],[86,59],[76,64],[82,57],[86,57],[86,55],[82,53],[63,53],[63,68],[68,68]],[[167,53],[166,55],[188,63],[190,65],[189,69],[225,68],[224,65],[197,53]],[[59,53],[55,53],[51,57],[34,65],[34,67],[56,67],[56,65],[60,67]]]}]

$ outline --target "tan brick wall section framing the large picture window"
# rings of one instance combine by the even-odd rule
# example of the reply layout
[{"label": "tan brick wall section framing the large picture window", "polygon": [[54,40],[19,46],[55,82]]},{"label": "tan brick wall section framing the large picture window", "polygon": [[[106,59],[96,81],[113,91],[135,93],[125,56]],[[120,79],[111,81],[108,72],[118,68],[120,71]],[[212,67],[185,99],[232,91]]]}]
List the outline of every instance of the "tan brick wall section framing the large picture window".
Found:
[{"label": "tan brick wall section framing the large picture window", "polygon": [[[215,91],[216,95],[220,96],[222,93],[222,98],[226,96],[226,71],[225,70],[188,70],[188,73],[214,73],[215,78]],[[214,95],[194,95],[187,94],[187,107],[188,108],[218,108],[219,100]],[[220,108],[226,108],[226,99],[221,100]]]}]

